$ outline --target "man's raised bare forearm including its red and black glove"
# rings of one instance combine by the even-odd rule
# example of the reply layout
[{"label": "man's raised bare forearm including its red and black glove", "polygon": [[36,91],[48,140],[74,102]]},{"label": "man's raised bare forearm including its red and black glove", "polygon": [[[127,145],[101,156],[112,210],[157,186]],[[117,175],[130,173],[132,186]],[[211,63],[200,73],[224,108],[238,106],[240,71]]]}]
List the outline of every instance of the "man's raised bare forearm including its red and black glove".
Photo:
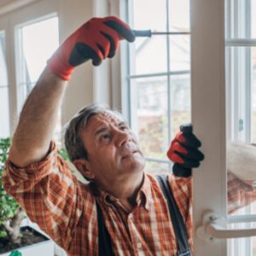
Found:
[{"label": "man's raised bare forearm including its red and black glove", "polygon": [[20,113],[9,152],[9,160],[15,166],[28,166],[48,153],[58,109],[74,67],[88,60],[98,66],[103,59],[112,58],[123,38],[135,40],[124,22],[116,17],[94,18],[55,51]]}]

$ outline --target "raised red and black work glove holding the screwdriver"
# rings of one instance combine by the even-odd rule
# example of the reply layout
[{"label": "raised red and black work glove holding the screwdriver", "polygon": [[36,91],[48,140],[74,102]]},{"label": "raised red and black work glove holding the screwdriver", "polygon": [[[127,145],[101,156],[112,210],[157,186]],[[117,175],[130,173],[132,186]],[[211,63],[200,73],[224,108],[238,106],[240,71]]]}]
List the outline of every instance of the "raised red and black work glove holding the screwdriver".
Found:
[{"label": "raised red and black work glove holding the screwdriver", "polygon": [[49,69],[61,79],[69,80],[74,67],[92,60],[99,66],[105,58],[112,58],[119,48],[119,40],[135,40],[130,26],[117,17],[93,18],[67,38],[47,62]]}]

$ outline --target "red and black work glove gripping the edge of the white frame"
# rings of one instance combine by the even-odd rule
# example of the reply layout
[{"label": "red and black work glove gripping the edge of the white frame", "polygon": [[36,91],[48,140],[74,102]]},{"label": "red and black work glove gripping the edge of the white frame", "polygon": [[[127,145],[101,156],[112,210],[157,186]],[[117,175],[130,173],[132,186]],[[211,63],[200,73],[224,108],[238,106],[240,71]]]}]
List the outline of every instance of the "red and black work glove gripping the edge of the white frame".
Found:
[{"label": "red and black work glove gripping the edge of the white frame", "polygon": [[200,161],[205,156],[198,149],[201,147],[200,140],[192,132],[192,125],[180,126],[180,131],[171,143],[167,156],[174,165],[172,172],[177,177],[191,176],[191,168],[200,166]]}]

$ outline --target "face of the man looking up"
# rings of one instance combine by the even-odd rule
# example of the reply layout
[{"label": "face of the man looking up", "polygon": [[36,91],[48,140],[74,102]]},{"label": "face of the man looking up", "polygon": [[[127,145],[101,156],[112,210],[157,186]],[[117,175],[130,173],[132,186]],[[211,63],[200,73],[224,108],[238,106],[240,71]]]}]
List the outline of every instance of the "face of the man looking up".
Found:
[{"label": "face of the man looking up", "polygon": [[91,117],[80,135],[89,155],[87,168],[98,183],[123,181],[143,172],[145,160],[137,138],[117,115],[104,112]]}]

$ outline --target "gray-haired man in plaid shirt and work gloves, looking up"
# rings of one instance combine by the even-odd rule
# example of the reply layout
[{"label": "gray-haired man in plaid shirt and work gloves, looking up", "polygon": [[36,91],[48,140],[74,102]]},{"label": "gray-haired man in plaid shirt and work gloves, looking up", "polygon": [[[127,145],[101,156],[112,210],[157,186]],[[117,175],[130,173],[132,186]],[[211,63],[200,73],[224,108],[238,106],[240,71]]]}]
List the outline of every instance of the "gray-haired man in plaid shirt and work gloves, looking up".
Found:
[{"label": "gray-haired man in plaid shirt and work gloves, looking up", "polygon": [[[69,158],[89,184],[73,176],[52,141],[74,67],[90,59],[100,65],[124,38],[135,40],[131,28],[115,17],[91,19],[67,38],[28,96],[9,151],[4,188],[69,255],[107,255],[100,246],[100,214],[113,254],[177,255],[166,198],[156,178],[144,174],[137,139],[118,113],[88,106],[67,126]],[[192,133],[179,133],[168,155],[183,167],[199,166],[200,145]],[[191,177],[169,175],[168,183],[193,248]]]}]

